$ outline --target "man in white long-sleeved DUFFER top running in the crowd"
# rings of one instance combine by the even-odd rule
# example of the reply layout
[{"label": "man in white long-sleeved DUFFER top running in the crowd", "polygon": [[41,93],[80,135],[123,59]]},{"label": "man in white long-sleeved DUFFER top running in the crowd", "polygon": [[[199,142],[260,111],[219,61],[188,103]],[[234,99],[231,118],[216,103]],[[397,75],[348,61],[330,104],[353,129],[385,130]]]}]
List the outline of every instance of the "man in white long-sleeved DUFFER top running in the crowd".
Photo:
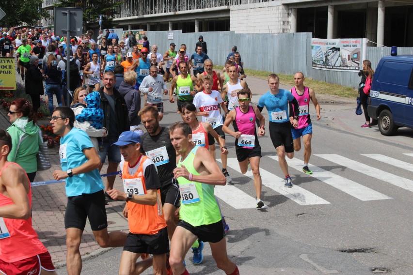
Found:
[{"label": "man in white long-sleeved DUFFER top running in the crowd", "polygon": [[[163,77],[158,75],[158,67],[151,66],[149,68],[150,75],[143,78],[139,91],[145,95],[146,105],[155,106],[159,112],[159,121],[163,118],[163,102],[162,93],[168,94]],[[163,91],[162,91],[163,90]]]}]

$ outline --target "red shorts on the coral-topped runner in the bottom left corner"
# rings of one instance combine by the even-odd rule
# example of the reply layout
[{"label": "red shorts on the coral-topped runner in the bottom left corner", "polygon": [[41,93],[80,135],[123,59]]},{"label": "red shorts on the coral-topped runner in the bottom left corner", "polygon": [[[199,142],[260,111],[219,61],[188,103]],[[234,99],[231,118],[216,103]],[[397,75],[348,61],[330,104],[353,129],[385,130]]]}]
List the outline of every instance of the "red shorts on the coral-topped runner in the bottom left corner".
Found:
[{"label": "red shorts on the coral-topped runner in the bottom left corner", "polygon": [[39,275],[41,269],[55,271],[49,252],[15,262],[0,259],[0,275]]}]

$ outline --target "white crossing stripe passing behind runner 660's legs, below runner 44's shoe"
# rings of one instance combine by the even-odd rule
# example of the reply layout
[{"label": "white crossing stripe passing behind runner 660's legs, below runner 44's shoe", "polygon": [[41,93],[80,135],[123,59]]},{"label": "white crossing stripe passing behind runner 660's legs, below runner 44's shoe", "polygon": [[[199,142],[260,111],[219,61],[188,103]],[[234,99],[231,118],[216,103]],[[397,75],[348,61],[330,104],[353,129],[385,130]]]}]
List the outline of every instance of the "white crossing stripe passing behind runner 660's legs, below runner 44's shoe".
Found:
[{"label": "white crossing stripe passing behind runner 660's legs, below runner 44's shoe", "polygon": [[[219,161],[219,160],[217,160]],[[237,172],[241,172],[238,165],[237,158],[228,158],[227,166],[233,168]],[[274,174],[260,168],[260,174],[262,179],[262,184],[268,188],[274,190],[275,192],[286,196],[288,199],[293,200],[294,202],[300,205],[314,205],[314,204],[329,204],[327,200],[324,200],[317,195],[301,188],[298,185],[294,185],[292,188],[284,187],[284,179],[275,176]],[[245,176],[250,179],[254,179],[253,172],[248,171]],[[264,198],[265,199],[265,198]]]}]

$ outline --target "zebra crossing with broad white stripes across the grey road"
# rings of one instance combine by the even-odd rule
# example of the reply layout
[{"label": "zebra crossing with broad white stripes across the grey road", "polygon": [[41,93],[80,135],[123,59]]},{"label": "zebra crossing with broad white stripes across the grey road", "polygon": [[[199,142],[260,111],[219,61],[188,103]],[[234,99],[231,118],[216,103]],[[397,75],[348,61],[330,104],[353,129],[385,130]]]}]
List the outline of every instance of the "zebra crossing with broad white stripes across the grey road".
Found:
[{"label": "zebra crossing with broad white stripes across the grey road", "polygon": [[[398,160],[382,154],[360,154],[363,157],[373,159],[378,163],[385,163],[392,167],[405,169],[409,172],[413,172],[413,164],[405,161]],[[413,153],[404,153],[413,157]],[[402,189],[413,192],[413,181],[408,178],[400,177],[396,174],[392,174],[383,171],[379,168],[375,168],[364,163],[351,160],[347,157],[338,154],[315,154],[322,159],[335,163],[344,168],[348,168],[366,176],[378,179],[382,182],[389,183],[400,187]],[[278,161],[278,156],[264,156],[261,158],[261,163],[272,159]],[[218,162],[220,160],[217,160]],[[287,159],[289,168],[293,168],[298,171],[302,171],[302,160],[298,158]],[[236,170],[241,173],[237,158],[228,158],[227,167]],[[323,168],[313,166],[309,164],[310,169],[313,171],[312,175],[302,174],[302,177],[311,177],[320,181],[321,183],[328,184],[337,190],[352,196],[355,199],[361,201],[371,200],[384,200],[393,199],[392,197],[382,194],[376,190],[373,190],[361,183],[357,183],[353,180],[347,179],[341,175],[337,175],[334,172],[327,171]],[[316,194],[306,190],[305,188],[294,185],[293,188],[284,187],[284,179],[276,176],[275,174],[260,168],[260,174],[262,178],[263,190],[265,187],[275,191],[276,193],[285,196],[287,199],[294,201],[299,205],[318,205],[318,204],[331,204]],[[252,171],[248,171],[245,174],[246,177],[254,179]],[[294,182],[293,182],[294,183]],[[265,187],[264,187],[265,186]],[[215,195],[222,199],[225,203],[229,204],[235,209],[252,209],[255,208],[254,194],[247,194],[237,187],[237,183],[226,184],[225,186],[216,186]],[[265,198],[264,198],[265,199]]]}]

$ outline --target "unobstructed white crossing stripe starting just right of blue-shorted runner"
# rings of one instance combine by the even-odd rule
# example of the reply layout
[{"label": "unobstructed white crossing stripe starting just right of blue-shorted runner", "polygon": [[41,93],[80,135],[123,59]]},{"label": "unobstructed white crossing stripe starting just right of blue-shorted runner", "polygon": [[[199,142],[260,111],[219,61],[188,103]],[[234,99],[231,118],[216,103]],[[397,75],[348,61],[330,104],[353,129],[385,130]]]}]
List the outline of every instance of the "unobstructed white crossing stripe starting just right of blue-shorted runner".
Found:
[{"label": "unobstructed white crossing stripe starting just right of blue-shorted runner", "polygon": [[397,175],[365,165],[364,163],[351,160],[349,158],[346,158],[338,154],[316,154],[316,156],[319,156],[321,158],[334,162],[338,165],[350,168],[357,172],[363,173],[367,176],[376,178],[383,182],[387,182],[387,183],[393,184],[395,186],[398,186],[400,188],[413,192],[413,181],[412,180],[399,177]]}]

